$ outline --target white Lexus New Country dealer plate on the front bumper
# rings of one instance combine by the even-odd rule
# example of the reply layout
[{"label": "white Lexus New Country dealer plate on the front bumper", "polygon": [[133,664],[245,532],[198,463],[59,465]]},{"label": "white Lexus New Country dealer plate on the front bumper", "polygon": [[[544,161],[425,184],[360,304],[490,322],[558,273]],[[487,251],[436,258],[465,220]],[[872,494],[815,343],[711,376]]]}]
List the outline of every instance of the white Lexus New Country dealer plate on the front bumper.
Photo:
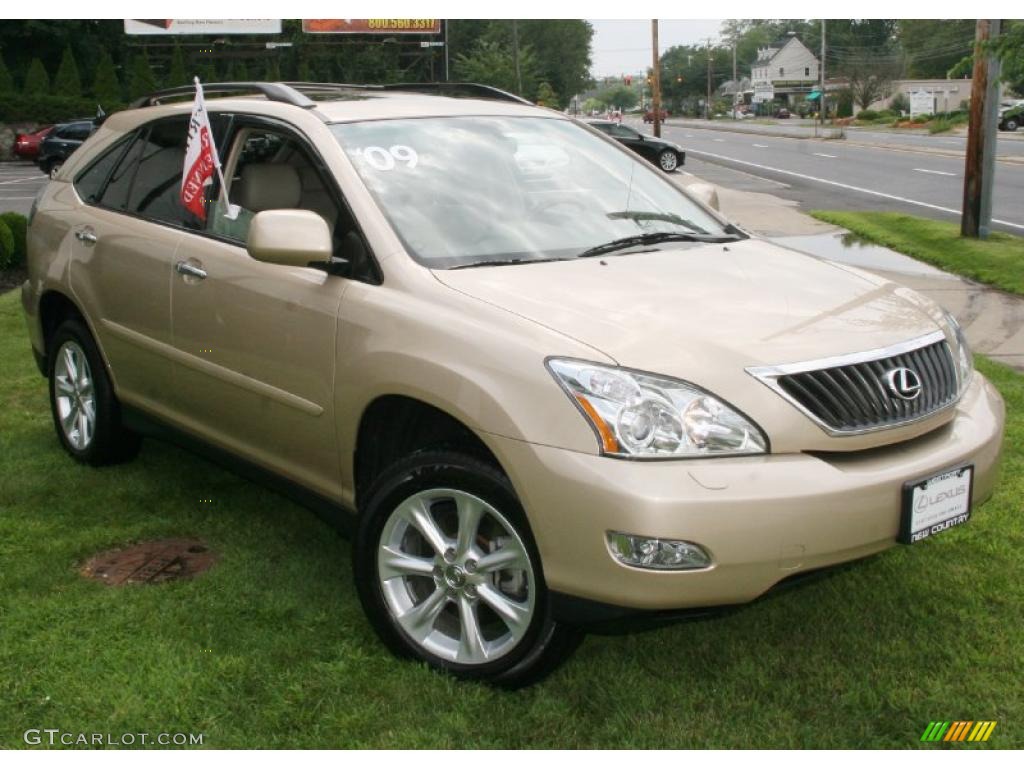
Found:
[{"label": "white Lexus New Country dealer plate on the front bumper", "polygon": [[913,544],[971,519],[974,467],[959,467],[903,486],[899,540]]}]

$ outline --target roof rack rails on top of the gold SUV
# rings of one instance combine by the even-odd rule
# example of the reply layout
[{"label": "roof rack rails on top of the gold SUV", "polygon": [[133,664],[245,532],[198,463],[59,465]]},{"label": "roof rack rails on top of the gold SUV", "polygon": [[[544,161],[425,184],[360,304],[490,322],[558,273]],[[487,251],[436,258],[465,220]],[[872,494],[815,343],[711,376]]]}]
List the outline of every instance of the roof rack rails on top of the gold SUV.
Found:
[{"label": "roof rack rails on top of the gold SUV", "polygon": [[[231,94],[231,93],[261,93],[269,101],[281,101],[283,103],[300,106],[303,110],[311,110],[316,106],[316,102],[305,95],[305,93],[315,92],[339,92],[352,90],[367,91],[411,91],[416,93],[434,93],[442,96],[464,96],[473,98],[492,98],[501,101],[515,101],[522,104],[532,102],[517,96],[514,93],[503,91],[489,85],[479,83],[386,83],[383,85],[352,83],[302,83],[302,82],[238,82],[238,83],[203,83],[204,94]],[[163,103],[166,99],[181,96],[193,96],[196,93],[195,85],[179,85],[175,88],[165,88],[164,90],[151,93],[131,103],[133,109],[142,106],[155,106]]]}]

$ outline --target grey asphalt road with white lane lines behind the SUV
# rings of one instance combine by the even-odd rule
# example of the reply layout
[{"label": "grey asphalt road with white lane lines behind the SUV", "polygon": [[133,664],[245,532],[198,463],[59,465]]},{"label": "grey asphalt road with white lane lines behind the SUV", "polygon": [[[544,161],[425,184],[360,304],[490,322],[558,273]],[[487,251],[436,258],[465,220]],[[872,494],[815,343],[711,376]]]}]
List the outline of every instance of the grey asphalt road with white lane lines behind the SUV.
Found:
[{"label": "grey asphalt road with white lane lines behind the SUV", "polygon": [[[635,124],[646,133],[650,126]],[[752,126],[753,127],[753,126]],[[788,138],[685,125],[663,126],[662,135],[687,152],[686,170],[700,176],[703,164],[774,182],[770,191],[804,210],[885,210],[959,220],[964,158],[951,144],[928,152],[939,138],[915,135],[906,148],[864,145],[844,139]],[[888,139],[891,134],[885,134]],[[956,139],[963,141],[963,139]],[[1016,152],[1018,139],[1000,141]],[[887,143],[891,143],[887,140]],[[961,150],[959,152],[963,152]],[[691,162],[696,161],[696,162]],[[714,178],[709,178],[714,181]],[[765,189],[766,191],[768,189]],[[993,224],[1024,233],[1024,164],[996,164]]]}]

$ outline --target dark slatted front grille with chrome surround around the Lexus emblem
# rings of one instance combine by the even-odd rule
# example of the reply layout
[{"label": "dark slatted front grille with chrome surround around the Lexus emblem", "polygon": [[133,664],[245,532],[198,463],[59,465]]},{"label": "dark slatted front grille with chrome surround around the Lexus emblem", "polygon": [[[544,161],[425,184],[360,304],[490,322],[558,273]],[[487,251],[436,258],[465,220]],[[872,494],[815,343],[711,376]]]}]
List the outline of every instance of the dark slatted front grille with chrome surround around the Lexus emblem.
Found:
[{"label": "dark slatted front grille with chrome surround around the Lexus emblem", "polygon": [[[919,421],[952,404],[959,394],[956,366],[941,333],[890,349],[820,364],[752,369],[751,373],[828,431],[840,434]],[[910,373],[901,378],[904,375],[899,369]],[[891,383],[894,377],[896,384]],[[900,397],[894,388],[904,394],[918,391],[918,395]]]}]

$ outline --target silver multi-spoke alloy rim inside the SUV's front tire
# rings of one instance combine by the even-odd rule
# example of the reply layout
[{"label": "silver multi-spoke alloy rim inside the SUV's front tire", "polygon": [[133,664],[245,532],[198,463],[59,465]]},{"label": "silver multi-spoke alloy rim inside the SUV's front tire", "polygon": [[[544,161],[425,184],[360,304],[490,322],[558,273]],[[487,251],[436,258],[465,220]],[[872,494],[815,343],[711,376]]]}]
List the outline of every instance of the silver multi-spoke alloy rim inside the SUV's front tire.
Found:
[{"label": "silver multi-spoke alloy rim inside the SUV's front tire", "polygon": [[505,656],[534,617],[536,575],[522,539],[492,505],[462,490],[401,502],[381,531],[377,574],[394,622],[446,662]]}]

